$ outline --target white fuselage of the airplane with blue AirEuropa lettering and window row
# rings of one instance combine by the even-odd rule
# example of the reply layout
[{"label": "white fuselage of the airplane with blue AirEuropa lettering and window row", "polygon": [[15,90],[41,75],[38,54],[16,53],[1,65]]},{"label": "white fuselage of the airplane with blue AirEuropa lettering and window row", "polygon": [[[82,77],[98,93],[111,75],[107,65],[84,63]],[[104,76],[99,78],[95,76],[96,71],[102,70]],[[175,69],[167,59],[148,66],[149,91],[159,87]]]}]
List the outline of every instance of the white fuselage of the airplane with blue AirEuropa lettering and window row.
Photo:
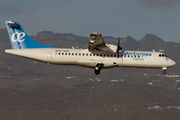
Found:
[{"label": "white fuselage of the airplane with blue AirEuropa lettering and window row", "polygon": [[117,53],[88,51],[88,49],[38,48],[38,49],[6,49],[6,53],[38,60],[50,64],[79,65],[94,68],[102,63],[102,68],[111,67],[139,67],[139,68],[167,68],[175,62],[160,52],[125,51]]}]

